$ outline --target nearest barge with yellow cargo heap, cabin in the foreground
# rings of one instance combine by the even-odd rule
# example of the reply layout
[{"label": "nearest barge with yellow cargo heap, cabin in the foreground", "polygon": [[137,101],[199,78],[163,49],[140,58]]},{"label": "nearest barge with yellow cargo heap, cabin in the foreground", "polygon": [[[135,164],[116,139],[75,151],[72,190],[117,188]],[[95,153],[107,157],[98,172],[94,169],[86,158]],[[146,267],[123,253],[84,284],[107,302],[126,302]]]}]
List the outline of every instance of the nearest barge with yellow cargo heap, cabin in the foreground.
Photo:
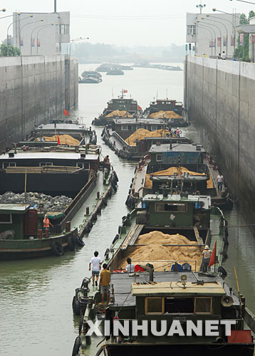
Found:
[{"label": "nearest barge with yellow cargo heap, cabin in the foreground", "polygon": [[[88,320],[108,320],[110,332],[100,338],[96,355],[155,355],[156,352],[189,352],[197,355],[254,355],[252,313],[245,298],[233,293],[223,277],[222,267],[227,257],[227,224],[222,211],[212,207],[209,196],[188,194],[148,194],[137,209],[123,217],[118,235],[105,251],[105,263],[110,269],[110,303],[100,304],[101,295],[84,278],[76,289],[73,308],[80,313],[79,336],[73,355],[91,355]],[[207,271],[204,247],[213,251],[211,271]],[[132,259],[133,271],[127,273],[126,258]],[[211,261],[211,260],[210,260]],[[103,312],[105,310],[105,313]],[[157,320],[157,336],[130,333],[115,335],[113,324]],[[219,327],[217,335],[197,336],[187,331],[187,321],[194,325],[205,320],[223,325],[231,320],[226,335]],[[183,335],[171,337],[160,333],[160,323],[172,323],[183,328]],[[176,330],[176,329],[175,329]],[[103,330],[101,330],[103,332]],[[87,353],[88,352],[88,353]]]}]

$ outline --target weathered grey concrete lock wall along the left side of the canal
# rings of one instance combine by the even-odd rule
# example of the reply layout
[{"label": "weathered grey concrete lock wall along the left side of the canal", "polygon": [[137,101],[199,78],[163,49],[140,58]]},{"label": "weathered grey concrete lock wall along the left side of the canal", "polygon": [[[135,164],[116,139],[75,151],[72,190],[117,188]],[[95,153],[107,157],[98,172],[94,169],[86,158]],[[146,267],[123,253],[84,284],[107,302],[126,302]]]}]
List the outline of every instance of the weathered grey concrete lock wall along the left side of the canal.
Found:
[{"label": "weathered grey concrete lock wall along the left side of the canal", "polygon": [[0,58],[0,150],[78,104],[78,63],[67,57]]}]

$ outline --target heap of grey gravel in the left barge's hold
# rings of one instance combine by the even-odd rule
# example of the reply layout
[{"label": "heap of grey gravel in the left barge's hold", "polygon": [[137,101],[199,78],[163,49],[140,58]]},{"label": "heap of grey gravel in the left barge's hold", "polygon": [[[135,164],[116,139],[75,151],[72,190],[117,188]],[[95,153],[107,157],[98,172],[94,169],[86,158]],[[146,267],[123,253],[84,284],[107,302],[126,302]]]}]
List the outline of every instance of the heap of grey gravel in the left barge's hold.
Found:
[{"label": "heap of grey gravel in the left barge's hold", "polygon": [[72,200],[65,195],[51,197],[51,195],[33,192],[26,193],[26,197],[25,193],[15,194],[13,192],[0,195],[0,204],[30,204],[41,211],[64,211]]}]

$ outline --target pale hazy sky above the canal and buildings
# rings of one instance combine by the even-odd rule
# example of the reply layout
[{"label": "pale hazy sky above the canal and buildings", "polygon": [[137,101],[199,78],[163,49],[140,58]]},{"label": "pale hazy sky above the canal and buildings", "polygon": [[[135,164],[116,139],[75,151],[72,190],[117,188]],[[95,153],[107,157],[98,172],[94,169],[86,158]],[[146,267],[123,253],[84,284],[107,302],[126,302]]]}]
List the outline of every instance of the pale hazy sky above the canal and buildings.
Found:
[{"label": "pale hazy sky above the canal and buildings", "polygon": [[[255,0],[254,0],[255,2]],[[168,46],[185,43],[186,12],[197,12],[200,0],[57,0],[57,11],[71,12],[71,38],[89,37],[91,43],[113,43],[132,46]],[[231,13],[249,13],[255,5],[240,1],[204,1],[203,12],[216,7]],[[6,38],[6,29],[12,22],[13,11],[53,12],[53,0],[1,0],[0,40]],[[10,28],[12,33],[12,28]]]}]

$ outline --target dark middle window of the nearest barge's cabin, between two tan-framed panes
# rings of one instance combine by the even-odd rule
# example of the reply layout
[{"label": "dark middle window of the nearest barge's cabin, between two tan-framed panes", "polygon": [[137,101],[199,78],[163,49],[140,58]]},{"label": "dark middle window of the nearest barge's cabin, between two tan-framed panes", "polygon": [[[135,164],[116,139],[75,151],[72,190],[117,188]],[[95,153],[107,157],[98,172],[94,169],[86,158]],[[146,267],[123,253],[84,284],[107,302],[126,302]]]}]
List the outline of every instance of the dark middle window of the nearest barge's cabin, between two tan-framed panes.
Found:
[{"label": "dark middle window of the nearest barge's cabin, between two tan-framed panes", "polygon": [[165,313],[194,313],[194,298],[165,298]]}]

